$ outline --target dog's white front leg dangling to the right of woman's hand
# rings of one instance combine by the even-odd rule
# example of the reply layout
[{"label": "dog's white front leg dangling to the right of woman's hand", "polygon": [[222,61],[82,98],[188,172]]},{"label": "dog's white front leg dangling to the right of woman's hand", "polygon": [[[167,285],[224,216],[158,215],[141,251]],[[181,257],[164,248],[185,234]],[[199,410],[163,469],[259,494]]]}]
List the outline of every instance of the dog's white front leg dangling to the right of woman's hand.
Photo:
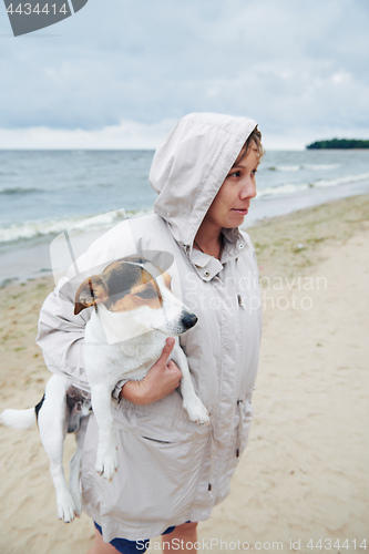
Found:
[{"label": "dog's white front leg dangling to the right of woman's hand", "polygon": [[172,358],[182,371],[181,393],[183,398],[183,408],[188,413],[189,420],[201,424],[208,423],[211,421],[208,411],[194,390],[187,358],[178,342],[176,342],[174,347]]}]

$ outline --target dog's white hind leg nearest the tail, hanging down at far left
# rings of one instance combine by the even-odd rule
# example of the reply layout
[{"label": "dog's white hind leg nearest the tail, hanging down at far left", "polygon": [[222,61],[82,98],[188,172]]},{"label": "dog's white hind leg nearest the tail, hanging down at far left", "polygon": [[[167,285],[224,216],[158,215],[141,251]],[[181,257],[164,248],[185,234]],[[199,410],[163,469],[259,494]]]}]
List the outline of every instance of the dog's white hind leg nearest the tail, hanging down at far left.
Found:
[{"label": "dog's white hind leg nearest the tail, hanging down at far left", "polygon": [[65,523],[74,519],[74,502],[68,488],[63,469],[63,447],[68,429],[68,382],[53,376],[45,389],[45,398],[39,411],[39,429],[43,448],[50,460],[50,473],[57,493],[58,517]]}]

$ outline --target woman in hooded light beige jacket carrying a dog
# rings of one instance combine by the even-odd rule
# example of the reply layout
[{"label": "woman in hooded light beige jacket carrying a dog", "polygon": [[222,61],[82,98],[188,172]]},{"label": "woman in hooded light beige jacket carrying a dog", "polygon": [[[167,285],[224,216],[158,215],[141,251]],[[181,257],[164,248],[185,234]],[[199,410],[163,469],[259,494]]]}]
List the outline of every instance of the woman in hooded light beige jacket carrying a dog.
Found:
[{"label": "woman in hooded light beige jacket carrying a dog", "polygon": [[[255,252],[238,226],[256,195],[262,155],[254,121],[188,114],[155,153],[155,213],[116,225],[79,261],[89,268],[134,252],[173,255],[174,289],[198,317],[181,346],[212,420],[209,427],[188,421],[175,390],[181,371],[167,363],[171,339],[143,381],[117,384],[120,460],[112,483],[94,471],[93,417],[84,443],[83,509],[98,523],[91,554],[144,552],[142,541],[164,532],[194,544],[196,522],[208,519],[229,492],[253,416],[260,340]],[[57,287],[41,310],[38,343],[51,371],[83,387],[89,309],[73,316],[73,299],[65,302],[58,293]]]}]

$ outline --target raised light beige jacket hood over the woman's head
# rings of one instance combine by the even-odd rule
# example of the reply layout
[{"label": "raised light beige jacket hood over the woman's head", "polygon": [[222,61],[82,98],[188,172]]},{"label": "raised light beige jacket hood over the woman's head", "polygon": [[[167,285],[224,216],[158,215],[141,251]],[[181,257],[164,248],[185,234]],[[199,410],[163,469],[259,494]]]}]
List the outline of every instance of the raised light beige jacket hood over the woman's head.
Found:
[{"label": "raised light beige jacket hood over the woman's head", "polygon": [[191,113],[176,124],[155,152],[150,182],[157,193],[155,212],[182,246],[192,246],[254,120],[217,113]]}]

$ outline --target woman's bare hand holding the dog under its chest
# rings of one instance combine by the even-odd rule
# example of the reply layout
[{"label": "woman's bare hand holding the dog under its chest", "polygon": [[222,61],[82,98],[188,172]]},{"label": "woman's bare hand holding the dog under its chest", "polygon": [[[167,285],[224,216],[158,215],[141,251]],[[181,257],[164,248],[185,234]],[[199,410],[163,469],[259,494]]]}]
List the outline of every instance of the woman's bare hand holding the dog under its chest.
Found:
[{"label": "woman's bare hand holding the dog under its chest", "polygon": [[174,345],[175,340],[167,338],[156,363],[150,368],[141,381],[127,381],[121,390],[121,398],[142,406],[151,404],[171,394],[180,386],[182,379],[181,369],[174,361],[168,360]]}]

